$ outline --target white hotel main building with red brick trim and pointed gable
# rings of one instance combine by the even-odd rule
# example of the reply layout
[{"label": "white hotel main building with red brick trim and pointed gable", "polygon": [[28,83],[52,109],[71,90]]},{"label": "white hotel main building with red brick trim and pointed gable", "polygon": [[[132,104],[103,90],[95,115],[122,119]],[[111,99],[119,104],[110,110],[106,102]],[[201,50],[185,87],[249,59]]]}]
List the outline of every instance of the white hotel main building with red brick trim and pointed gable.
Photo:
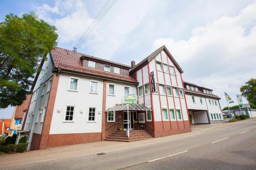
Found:
[{"label": "white hotel main building with red brick trim and pointed gable", "polygon": [[[23,125],[29,150],[191,131],[183,70],[165,46],[131,66],[59,47],[47,57]],[[129,113],[107,111],[121,105],[125,94],[137,95]],[[143,130],[131,131],[127,139],[115,132],[119,126]]]}]

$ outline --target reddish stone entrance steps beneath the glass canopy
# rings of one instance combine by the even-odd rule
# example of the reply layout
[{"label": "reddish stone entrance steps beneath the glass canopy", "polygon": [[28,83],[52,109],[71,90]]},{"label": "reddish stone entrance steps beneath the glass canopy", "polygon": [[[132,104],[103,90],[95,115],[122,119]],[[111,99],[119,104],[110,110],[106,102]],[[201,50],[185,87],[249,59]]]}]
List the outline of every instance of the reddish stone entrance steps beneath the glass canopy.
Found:
[{"label": "reddish stone entrance steps beneath the glass canopy", "polygon": [[130,130],[129,138],[126,136],[126,131],[115,131],[110,136],[106,137],[105,140],[129,142],[150,138],[153,138],[153,136],[146,130]]}]

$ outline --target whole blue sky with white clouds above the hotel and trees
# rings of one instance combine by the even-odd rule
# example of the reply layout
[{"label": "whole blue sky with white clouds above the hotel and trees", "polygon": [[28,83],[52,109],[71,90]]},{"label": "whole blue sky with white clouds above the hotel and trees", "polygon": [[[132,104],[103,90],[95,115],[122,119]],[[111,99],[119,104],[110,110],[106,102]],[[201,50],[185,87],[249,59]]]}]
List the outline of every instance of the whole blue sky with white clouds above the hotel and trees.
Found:
[{"label": "whole blue sky with white clouds above the hotel and trees", "polygon": [[[0,0],[0,21],[34,11],[55,25],[58,46],[72,50],[105,2]],[[224,92],[237,105],[240,87],[256,75],[256,1],[117,0],[78,52],[131,65],[162,45],[184,81],[214,90],[222,108]],[[12,110],[0,117],[11,118]]]}]

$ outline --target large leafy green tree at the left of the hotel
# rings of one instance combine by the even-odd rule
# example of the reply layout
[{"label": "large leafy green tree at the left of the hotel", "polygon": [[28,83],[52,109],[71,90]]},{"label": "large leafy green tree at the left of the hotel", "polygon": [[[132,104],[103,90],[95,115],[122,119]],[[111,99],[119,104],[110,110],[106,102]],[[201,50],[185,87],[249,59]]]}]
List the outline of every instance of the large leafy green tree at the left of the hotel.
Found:
[{"label": "large leafy green tree at the left of the hotel", "polygon": [[0,109],[23,103],[57,37],[56,28],[33,12],[0,22]]}]

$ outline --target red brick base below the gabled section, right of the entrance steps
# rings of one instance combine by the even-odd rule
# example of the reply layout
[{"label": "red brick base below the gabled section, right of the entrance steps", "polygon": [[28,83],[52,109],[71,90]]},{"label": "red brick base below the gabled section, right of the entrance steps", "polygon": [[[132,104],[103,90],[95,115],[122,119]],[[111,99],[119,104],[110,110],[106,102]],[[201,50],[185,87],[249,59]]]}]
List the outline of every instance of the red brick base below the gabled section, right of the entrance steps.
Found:
[{"label": "red brick base below the gabled section, right of the entrance steps", "polygon": [[188,120],[184,121],[185,127],[183,125],[183,121],[178,121],[179,129],[177,126],[176,121],[171,121],[171,126],[172,129],[170,128],[170,123],[169,121],[163,122],[155,122],[155,137],[162,137],[162,136],[168,136],[168,135],[174,135],[174,134],[179,134],[179,133],[186,133],[186,132],[191,132],[190,124]]}]

